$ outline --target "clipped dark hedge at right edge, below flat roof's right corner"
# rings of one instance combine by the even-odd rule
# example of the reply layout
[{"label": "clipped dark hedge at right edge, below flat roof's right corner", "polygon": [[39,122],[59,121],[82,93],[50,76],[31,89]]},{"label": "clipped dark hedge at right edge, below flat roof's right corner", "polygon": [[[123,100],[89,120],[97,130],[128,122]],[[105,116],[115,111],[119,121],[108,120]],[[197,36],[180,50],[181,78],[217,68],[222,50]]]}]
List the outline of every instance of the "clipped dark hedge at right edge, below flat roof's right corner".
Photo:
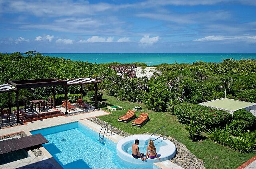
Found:
[{"label": "clipped dark hedge at right edge, below flat roof's right corner", "polygon": [[234,120],[243,120],[249,123],[251,126],[248,130],[256,129],[256,116],[252,115],[252,113],[247,112],[245,109],[237,110],[233,113]]}]

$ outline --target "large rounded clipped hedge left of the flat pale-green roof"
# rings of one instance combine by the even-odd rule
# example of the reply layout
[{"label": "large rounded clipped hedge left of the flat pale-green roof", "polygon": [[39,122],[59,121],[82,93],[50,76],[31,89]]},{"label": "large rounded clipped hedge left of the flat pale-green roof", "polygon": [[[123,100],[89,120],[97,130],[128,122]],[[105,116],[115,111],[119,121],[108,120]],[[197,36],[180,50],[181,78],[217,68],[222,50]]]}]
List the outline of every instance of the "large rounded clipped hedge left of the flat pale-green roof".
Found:
[{"label": "large rounded clipped hedge left of the flat pale-green roof", "polygon": [[194,120],[197,124],[204,125],[205,129],[225,126],[232,121],[232,115],[228,112],[186,102],[176,105],[174,114],[182,124],[190,124]]}]

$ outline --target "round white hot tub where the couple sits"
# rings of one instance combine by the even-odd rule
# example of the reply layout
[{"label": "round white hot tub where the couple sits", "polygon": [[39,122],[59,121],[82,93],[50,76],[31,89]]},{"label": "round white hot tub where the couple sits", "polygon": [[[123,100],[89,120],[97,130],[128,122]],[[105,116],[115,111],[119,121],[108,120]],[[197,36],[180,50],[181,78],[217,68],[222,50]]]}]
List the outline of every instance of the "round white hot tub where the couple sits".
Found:
[{"label": "round white hot tub where the couple sits", "polygon": [[[169,159],[172,159],[176,154],[176,147],[172,141],[164,139],[163,137],[158,138],[159,136],[151,136],[150,135],[133,135],[128,136],[126,138],[123,138],[122,140],[119,140],[117,143],[117,155],[121,160],[124,160],[126,162],[130,162],[133,164],[153,164],[160,161],[166,161]],[[151,140],[157,140],[154,141],[154,145],[156,147],[156,153],[158,157],[160,157],[160,160],[156,159],[146,159],[146,161],[142,161],[140,158],[135,159],[132,157],[132,144],[134,144],[134,140],[139,140],[139,150],[140,153],[144,153],[146,155],[147,146],[149,138]]]}]

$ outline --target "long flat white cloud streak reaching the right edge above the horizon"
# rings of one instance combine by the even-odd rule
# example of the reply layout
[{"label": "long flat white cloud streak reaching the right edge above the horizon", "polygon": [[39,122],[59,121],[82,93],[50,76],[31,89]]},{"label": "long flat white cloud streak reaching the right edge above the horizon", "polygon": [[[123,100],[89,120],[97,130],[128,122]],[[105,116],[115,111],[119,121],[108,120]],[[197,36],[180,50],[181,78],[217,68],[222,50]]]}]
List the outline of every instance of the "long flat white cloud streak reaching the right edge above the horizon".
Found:
[{"label": "long flat white cloud streak reaching the right edge above the horizon", "polygon": [[234,40],[239,40],[239,41],[251,41],[255,42],[254,39],[256,39],[256,36],[206,36],[200,39],[195,39],[193,41],[223,41],[223,40],[228,40],[228,39],[234,39]]}]

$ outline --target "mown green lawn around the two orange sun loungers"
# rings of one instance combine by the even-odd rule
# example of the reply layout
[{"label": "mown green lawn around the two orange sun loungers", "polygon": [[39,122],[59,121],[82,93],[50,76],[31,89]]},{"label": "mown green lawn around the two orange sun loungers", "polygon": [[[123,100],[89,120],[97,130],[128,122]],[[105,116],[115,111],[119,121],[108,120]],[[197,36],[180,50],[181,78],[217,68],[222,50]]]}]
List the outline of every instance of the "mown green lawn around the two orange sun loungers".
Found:
[{"label": "mown green lawn around the two orange sun loungers", "polygon": [[[88,98],[84,97],[84,99],[87,100]],[[186,145],[196,157],[199,157],[205,162],[206,169],[234,169],[256,155],[256,152],[241,154],[238,151],[234,151],[208,139],[192,142],[188,139],[188,133],[185,130],[185,126],[178,122],[176,116],[167,112],[153,112],[146,109],[144,104],[118,101],[117,98],[107,96],[106,94],[104,94],[103,99],[105,99],[103,102],[121,106],[123,110],[117,110],[110,115],[101,116],[99,117],[101,120],[111,121],[113,126],[130,134],[143,134],[146,132],[154,133],[158,128],[166,126],[167,135]],[[134,106],[142,106],[143,110],[141,112],[149,113],[150,120],[141,128],[131,126],[133,120],[129,123],[118,122],[118,118]],[[141,112],[136,112],[136,117],[138,117]],[[160,133],[164,134],[164,130]]]}]

